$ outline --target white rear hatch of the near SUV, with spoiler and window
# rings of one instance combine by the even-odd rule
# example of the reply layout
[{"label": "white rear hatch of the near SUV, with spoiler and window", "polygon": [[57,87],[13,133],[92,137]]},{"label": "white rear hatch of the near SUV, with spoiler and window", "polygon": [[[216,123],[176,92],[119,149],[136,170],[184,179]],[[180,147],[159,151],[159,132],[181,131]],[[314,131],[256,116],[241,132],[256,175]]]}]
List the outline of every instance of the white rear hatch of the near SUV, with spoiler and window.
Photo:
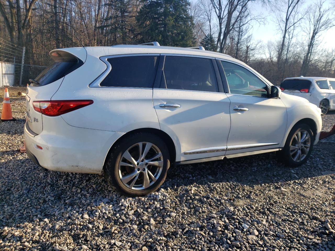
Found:
[{"label": "white rear hatch of the near SUV, with spoiler and window", "polygon": [[[50,52],[53,63],[49,65],[35,79],[29,79],[27,87],[27,130],[31,134],[40,134],[43,131],[43,116],[34,108],[34,101],[48,101],[56,93],[64,77],[83,65],[86,59],[84,48],[69,48]],[[35,104],[36,105],[36,104]]]}]

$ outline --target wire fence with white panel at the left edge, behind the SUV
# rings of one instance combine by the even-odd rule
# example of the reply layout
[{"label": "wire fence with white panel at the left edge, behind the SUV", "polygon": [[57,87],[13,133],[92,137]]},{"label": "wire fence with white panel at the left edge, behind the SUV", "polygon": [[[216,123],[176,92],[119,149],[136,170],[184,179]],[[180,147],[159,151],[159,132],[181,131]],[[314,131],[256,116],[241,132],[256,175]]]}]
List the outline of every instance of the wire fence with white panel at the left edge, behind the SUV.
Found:
[{"label": "wire fence with white panel at the left edge, behind the SUV", "polygon": [[0,87],[26,85],[49,64],[49,59],[36,60],[26,56],[25,47],[12,44],[0,37]]}]

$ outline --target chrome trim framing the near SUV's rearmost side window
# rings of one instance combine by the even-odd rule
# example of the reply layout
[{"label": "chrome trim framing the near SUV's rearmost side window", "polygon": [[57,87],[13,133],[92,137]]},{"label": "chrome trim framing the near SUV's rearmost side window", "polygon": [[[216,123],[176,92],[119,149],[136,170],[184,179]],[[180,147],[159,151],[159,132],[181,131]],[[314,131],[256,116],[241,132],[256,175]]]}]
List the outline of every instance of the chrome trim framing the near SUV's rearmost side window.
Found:
[{"label": "chrome trim framing the near SUV's rearmost side window", "polygon": [[111,72],[112,66],[107,61],[110,58],[120,58],[120,57],[132,57],[132,56],[160,56],[159,53],[137,53],[137,54],[118,54],[118,55],[109,55],[103,56],[99,59],[106,64],[106,70],[100,74],[92,83],[88,85],[90,88],[113,88],[113,89],[150,89],[150,87],[124,87],[124,86],[101,86],[100,83],[107,77]]}]

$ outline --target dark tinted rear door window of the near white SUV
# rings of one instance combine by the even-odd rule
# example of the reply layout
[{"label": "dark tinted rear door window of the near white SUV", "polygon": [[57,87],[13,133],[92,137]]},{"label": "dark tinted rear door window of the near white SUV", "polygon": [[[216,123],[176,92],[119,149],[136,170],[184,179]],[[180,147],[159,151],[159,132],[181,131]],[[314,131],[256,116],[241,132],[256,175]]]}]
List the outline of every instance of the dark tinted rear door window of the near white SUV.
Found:
[{"label": "dark tinted rear door window of the near white SUV", "polygon": [[166,56],[160,88],[218,92],[212,60]]}]

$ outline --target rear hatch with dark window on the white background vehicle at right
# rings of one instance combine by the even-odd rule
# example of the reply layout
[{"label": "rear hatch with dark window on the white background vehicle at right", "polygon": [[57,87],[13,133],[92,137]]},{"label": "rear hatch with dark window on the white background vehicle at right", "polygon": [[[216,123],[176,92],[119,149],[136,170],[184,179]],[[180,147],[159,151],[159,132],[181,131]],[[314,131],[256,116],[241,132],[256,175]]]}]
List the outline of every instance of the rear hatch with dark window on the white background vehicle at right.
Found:
[{"label": "rear hatch with dark window on the white background vehicle at right", "polygon": [[280,84],[282,92],[308,99],[312,82],[308,79],[286,79]]}]

